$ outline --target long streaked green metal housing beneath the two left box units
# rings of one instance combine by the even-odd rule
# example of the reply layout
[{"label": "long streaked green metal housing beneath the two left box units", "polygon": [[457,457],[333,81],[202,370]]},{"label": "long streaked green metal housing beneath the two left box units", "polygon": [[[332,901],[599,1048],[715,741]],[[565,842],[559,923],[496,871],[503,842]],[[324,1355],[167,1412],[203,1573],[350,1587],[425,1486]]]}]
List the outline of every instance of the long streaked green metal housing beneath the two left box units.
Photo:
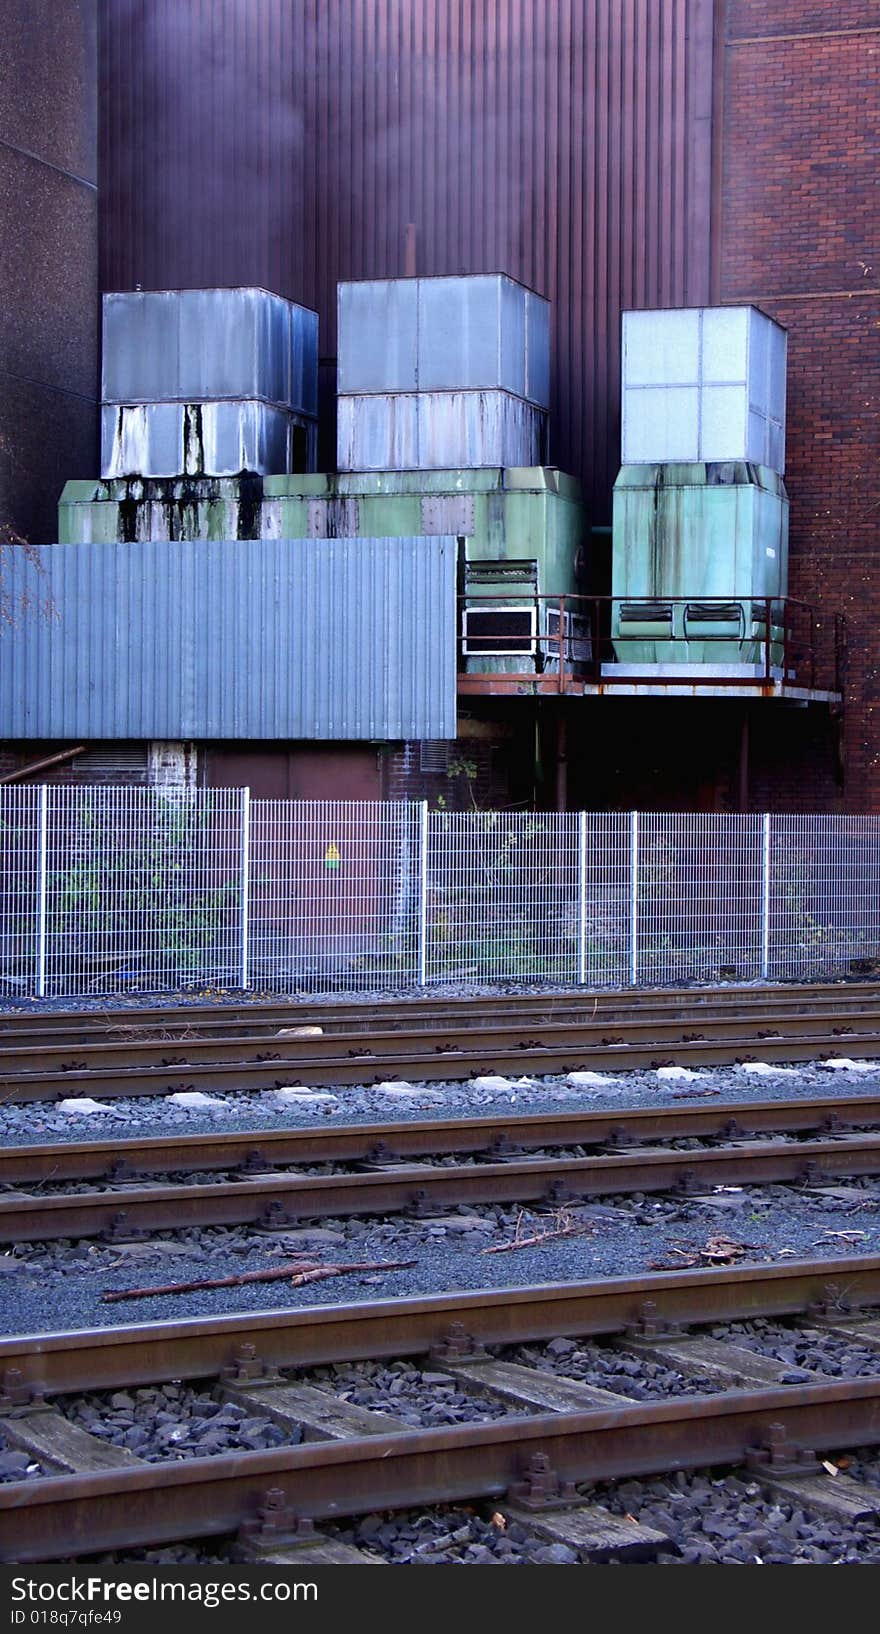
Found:
[{"label": "long streaked green metal housing beneath the two left box units", "polygon": [[[588,538],[581,489],[555,467],[69,482],[59,505],[62,544],[413,534],[460,541],[467,670],[552,667],[560,603],[536,598],[583,590]],[[490,616],[495,634],[480,639]]]}]

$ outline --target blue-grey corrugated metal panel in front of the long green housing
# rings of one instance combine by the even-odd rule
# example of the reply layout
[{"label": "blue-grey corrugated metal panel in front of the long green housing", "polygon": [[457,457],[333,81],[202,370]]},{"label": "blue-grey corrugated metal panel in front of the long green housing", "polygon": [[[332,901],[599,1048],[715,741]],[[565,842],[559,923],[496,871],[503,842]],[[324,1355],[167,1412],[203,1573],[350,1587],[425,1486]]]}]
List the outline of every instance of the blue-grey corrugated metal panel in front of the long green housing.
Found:
[{"label": "blue-grey corrugated metal panel in front of the long green housing", "polygon": [[3,564],[15,605],[31,608],[0,624],[0,737],[456,735],[452,538],[56,544],[38,557]]}]

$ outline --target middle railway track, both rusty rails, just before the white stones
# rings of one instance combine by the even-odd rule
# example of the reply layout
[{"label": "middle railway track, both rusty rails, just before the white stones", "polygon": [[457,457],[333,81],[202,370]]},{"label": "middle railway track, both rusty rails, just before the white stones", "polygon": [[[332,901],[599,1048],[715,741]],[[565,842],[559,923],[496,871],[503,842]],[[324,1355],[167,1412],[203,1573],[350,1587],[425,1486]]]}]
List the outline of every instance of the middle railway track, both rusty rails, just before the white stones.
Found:
[{"label": "middle railway track, both rusty rails, just before the white stones", "polygon": [[847,1096],[11,1147],[0,1242],[841,1180],[880,1173],[878,1126],[878,1096]]}]

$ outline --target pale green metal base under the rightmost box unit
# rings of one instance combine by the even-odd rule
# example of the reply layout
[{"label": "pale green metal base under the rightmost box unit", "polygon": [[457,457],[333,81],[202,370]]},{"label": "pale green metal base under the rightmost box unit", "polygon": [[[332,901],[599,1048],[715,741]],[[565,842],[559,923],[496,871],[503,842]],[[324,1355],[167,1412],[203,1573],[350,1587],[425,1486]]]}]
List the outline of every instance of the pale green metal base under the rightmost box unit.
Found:
[{"label": "pale green metal base under the rightmost box unit", "polygon": [[[620,663],[754,665],[767,600],[789,588],[789,500],[776,471],[624,466],[614,485],[612,642]],[[771,634],[780,611],[771,606]],[[771,657],[780,657],[782,631]]]}]

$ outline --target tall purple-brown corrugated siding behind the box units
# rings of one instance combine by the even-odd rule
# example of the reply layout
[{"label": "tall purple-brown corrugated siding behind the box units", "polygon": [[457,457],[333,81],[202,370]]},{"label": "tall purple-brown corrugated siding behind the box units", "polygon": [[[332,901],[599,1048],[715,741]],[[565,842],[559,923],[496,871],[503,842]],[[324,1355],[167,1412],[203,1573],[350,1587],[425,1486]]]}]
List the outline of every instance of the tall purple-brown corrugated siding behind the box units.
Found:
[{"label": "tall purple-brown corrugated siding behind the box units", "polygon": [[[707,304],[712,0],[103,0],[104,289],[506,271],[550,451],[611,520],[619,315]],[[320,461],[333,464],[322,369]]]}]

